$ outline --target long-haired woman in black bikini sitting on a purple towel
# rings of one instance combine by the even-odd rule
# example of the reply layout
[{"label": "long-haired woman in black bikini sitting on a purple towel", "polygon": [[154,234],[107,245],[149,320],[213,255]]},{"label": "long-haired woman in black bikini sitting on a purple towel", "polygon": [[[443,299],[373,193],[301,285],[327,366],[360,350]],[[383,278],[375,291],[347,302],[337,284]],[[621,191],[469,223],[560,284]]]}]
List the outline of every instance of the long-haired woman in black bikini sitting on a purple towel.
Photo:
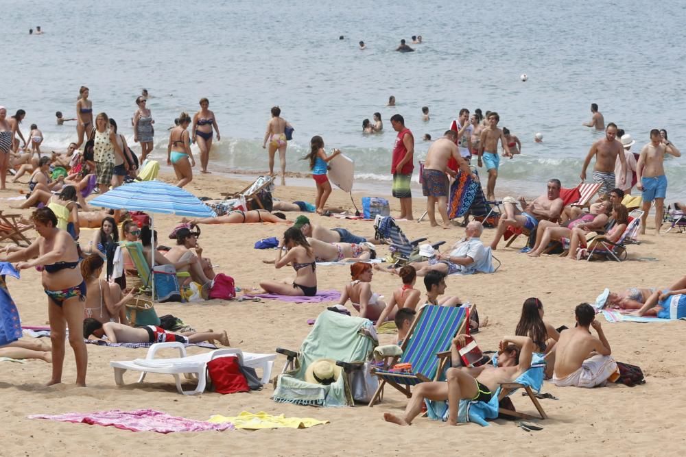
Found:
[{"label": "long-haired woman in black bikini sitting on a purple towel", "polygon": [[[286,254],[283,254],[283,248]],[[266,293],[279,295],[305,295],[314,297],[317,295],[317,264],[314,260],[312,247],[307,243],[303,232],[295,227],[290,227],[283,234],[279,251],[276,252],[274,267],[282,268],[291,264],[296,271],[295,278],[283,281],[261,281],[260,287]]]}]

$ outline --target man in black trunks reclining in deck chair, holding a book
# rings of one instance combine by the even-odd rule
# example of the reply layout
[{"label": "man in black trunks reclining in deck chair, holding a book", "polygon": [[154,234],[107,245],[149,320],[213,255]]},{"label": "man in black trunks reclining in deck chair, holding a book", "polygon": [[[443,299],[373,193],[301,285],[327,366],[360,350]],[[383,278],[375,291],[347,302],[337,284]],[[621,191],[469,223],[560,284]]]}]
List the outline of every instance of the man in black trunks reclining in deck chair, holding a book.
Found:
[{"label": "man in black trunks reclining in deck chair, holding a book", "polygon": [[[460,365],[458,346],[466,345],[466,335],[460,334],[451,345],[453,367]],[[512,382],[531,367],[534,342],[528,336],[506,336],[500,342],[498,366],[487,364],[475,368],[450,368],[447,381],[423,382],[412,391],[405,414],[401,417],[386,412],[383,419],[398,425],[410,425],[412,419],[422,412],[425,399],[448,402],[448,423],[457,425],[460,400],[490,402],[500,384]]]}]

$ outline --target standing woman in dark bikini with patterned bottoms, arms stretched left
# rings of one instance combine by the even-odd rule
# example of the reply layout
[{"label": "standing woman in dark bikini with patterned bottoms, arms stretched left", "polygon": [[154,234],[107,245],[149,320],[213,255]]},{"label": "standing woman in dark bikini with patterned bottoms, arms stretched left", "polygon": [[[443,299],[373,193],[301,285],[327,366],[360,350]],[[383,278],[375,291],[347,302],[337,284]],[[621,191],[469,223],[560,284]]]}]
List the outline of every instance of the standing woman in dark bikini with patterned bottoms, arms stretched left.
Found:
[{"label": "standing woman in dark bikini with patterned bottoms, arms stretched left", "polygon": [[73,238],[57,228],[57,217],[49,208],[35,210],[31,219],[38,232],[36,240],[27,248],[0,256],[0,260],[19,261],[16,264],[18,270],[43,267],[41,279],[48,297],[53,354],[52,377],[48,385],[62,382],[64,338],[68,326],[69,344],[76,359],[76,384],[86,386],[88,354],[83,336],[86,283],[76,268],[79,264],[78,249]]}]

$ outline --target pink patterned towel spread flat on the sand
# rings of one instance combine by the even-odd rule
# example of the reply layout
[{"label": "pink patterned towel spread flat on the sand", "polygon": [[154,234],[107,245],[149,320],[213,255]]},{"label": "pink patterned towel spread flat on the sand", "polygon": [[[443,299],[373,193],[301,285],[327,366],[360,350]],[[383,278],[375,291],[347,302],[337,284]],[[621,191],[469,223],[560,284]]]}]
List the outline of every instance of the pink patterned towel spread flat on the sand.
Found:
[{"label": "pink patterned towel spread flat on the sand", "polygon": [[131,430],[132,432],[203,432],[205,430],[232,430],[230,422],[211,423],[196,421],[185,417],[170,416],[166,412],[156,410],[110,410],[82,414],[67,412],[60,415],[32,415],[29,419],[50,419],[51,421],[87,423],[88,425],[103,425]]}]

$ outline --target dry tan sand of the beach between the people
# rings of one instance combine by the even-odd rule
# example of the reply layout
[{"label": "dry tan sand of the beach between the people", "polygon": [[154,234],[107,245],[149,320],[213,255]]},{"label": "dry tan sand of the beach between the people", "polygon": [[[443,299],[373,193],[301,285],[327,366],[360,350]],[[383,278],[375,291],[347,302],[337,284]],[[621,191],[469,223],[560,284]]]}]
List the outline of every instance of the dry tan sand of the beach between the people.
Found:
[{"label": "dry tan sand of the beach between the people", "polygon": [[[167,179],[169,176],[165,176]],[[197,176],[188,190],[196,195],[218,197],[223,191],[239,190],[244,182],[228,180],[220,175]],[[22,188],[25,186],[21,186]],[[0,197],[12,197],[19,185]],[[309,188],[277,187],[275,196],[293,201],[314,199],[314,186]],[[361,197],[362,195],[357,195]],[[359,199],[358,199],[359,201]],[[330,203],[350,206],[348,195],[335,190]],[[391,201],[397,214],[397,201]],[[425,201],[414,201],[415,214],[421,214]],[[0,201],[0,208],[8,208]],[[10,212],[16,212],[14,210]],[[29,214],[29,211],[24,211]],[[294,219],[299,213],[289,213]],[[315,222],[327,227],[346,227],[354,233],[373,232],[368,221],[340,221],[309,214]],[[179,220],[178,217],[156,217],[161,243]],[[453,243],[464,234],[461,228],[441,230],[425,221],[400,222],[408,237],[428,236],[431,241]],[[282,278],[290,269],[275,270],[261,260],[270,259],[274,251],[259,251],[252,245],[259,238],[279,236],[285,225],[249,224],[203,226],[200,244],[217,271],[235,277],[237,286],[246,291],[257,287],[262,278]],[[486,230],[484,241],[493,237]],[[572,262],[555,256],[532,259],[517,249],[501,247],[497,257],[502,267],[493,275],[451,276],[447,293],[459,295],[477,304],[480,315],[490,318],[490,325],[477,336],[484,349],[495,349],[499,339],[513,334],[519,319],[521,304],[528,297],[539,297],[545,306],[545,319],[555,326],[574,323],[573,308],[581,301],[593,301],[602,288],[612,290],[628,286],[666,286],[675,282],[683,269],[683,246],[686,235],[666,234],[641,236],[641,245],[629,247],[630,259],[615,262]],[[523,238],[515,246],[521,247]],[[168,243],[167,243],[168,244]],[[501,245],[502,246],[502,245]],[[385,254],[386,247],[381,247]],[[637,258],[655,258],[639,261]],[[349,279],[347,267],[320,267],[320,288],[342,288]],[[47,323],[47,303],[40,277],[36,271],[26,271],[21,280],[8,278],[10,292],[19,306],[21,319],[27,325]],[[377,274],[373,290],[390,296],[399,284],[392,275]],[[423,289],[423,285],[418,284]],[[251,352],[270,352],[275,347],[298,349],[311,327],[307,319],[331,304],[289,304],[279,301],[263,303],[237,301],[207,301],[202,304],[158,304],[159,315],[171,313],[198,329],[226,329],[237,347]],[[685,323],[607,323],[602,325],[617,360],[639,365],[646,373],[647,383],[628,388],[613,385],[608,388],[557,388],[545,383],[543,391],[559,401],[543,399],[549,419],[541,421],[545,430],[525,432],[512,421],[493,421],[489,427],[469,424],[458,428],[429,419],[419,418],[409,428],[399,428],[381,419],[384,411],[399,413],[406,399],[394,389],[386,389],[383,403],[368,408],[311,408],[278,404],[270,399],[272,386],[250,394],[219,395],[204,393],[185,397],[176,393],[169,375],[148,375],[144,384],[117,387],[110,360],[132,360],[145,355],[145,349],[122,349],[88,345],[88,376],[86,388],[73,386],[75,365],[73,353],[67,347],[64,382],[45,387],[50,367],[40,360],[27,364],[3,362],[0,374],[0,412],[3,422],[3,455],[123,455],[130,452],[163,452],[181,455],[400,455],[400,454],[596,454],[654,455],[676,454],[683,439],[683,414],[679,398],[686,388],[686,367],[683,349],[686,345]],[[381,343],[390,343],[392,335],[381,335]],[[190,353],[205,349],[190,348]],[[281,357],[281,356],[280,356]],[[283,357],[277,359],[273,374],[283,367]],[[133,382],[134,373],[126,373]],[[189,386],[187,386],[189,387]],[[519,393],[514,395],[519,410],[533,412],[533,407]],[[192,419],[206,419],[214,414],[236,415],[242,410],[266,411],[294,417],[328,419],[328,425],[307,430],[244,430],[202,433],[133,433],[115,428],[29,420],[32,414],[93,412],[119,408],[123,410],[153,408]],[[154,449],[154,451],[153,451]],[[467,450],[469,449],[469,450]]]}]

